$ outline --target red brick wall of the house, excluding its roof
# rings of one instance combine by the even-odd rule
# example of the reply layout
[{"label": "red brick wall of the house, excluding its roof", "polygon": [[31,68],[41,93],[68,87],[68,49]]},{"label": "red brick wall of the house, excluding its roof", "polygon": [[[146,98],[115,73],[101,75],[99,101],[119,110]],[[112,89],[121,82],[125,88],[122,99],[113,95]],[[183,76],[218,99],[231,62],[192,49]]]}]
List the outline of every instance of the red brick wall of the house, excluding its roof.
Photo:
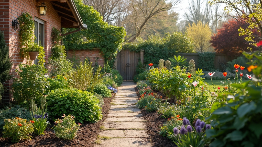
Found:
[{"label": "red brick wall of the house, excluding its roof", "polygon": [[[20,38],[19,31],[15,31],[12,26],[12,20],[18,18],[22,13],[28,12],[32,15],[33,19],[38,18],[45,22],[45,59],[51,55],[51,32],[52,28],[55,27],[61,30],[61,19],[57,12],[53,9],[50,2],[46,2],[45,5],[48,7],[45,16],[40,16],[38,11],[38,6],[41,2],[36,0],[0,0],[0,30],[4,32],[4,37],[9,47],[9,57],[13,63],[12,70],[10,74],[13,77],[17,77],[15,70],[17,65],[21,63],[26,63],[26,60],[21,57],[20,51]],[[19,28],[18,28],[19,29]],[[12,99],[12,89],[13,80],[6,81],[4,84],[7,91],[4,94],[4,103],[9,103]]]}]

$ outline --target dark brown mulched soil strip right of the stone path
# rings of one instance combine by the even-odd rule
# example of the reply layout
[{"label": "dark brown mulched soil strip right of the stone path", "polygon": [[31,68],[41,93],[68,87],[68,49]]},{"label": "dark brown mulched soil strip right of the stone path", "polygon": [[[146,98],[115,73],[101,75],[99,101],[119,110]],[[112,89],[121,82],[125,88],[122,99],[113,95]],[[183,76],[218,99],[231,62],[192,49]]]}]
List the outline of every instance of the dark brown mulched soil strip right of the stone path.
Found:
[{"label": "dark brown mulched soil strip right of the stone path", "polygon": [[[137,88],[135,88],[135,91],[137,92],[137,96],[140,97],[140,94],[138,93]],[[163,99],[165,99],[165,97],[163,97]],[[160,127],[162,127],[163,124],[167,122],[167,119],[162,118],[161,115],[158,114],[156,111],[146,112],[146,110],[144,109],[141,109],[141,111],[142,111],[144,120],[146,121],[145,130],[146,130],[146,133],[150,137],[152,147],[174,147],[176,146],[176,144],[174,144],[170,139],[163,137],[159,134]]]}]

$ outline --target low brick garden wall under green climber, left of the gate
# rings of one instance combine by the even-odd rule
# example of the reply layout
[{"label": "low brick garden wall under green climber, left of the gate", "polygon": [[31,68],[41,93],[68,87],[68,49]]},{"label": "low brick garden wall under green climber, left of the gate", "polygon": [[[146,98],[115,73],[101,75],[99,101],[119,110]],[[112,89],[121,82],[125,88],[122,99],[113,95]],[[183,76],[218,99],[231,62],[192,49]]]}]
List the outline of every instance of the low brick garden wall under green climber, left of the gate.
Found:
[{"label": "low brick garden wall under green climber, left of the gate", "polygon": [[67,59],[73,58],[79,59],[79,61],[84,61],[85,58],[89,58],[92,62],[92,65],[95,66],[100,65],[104,67],[105,60],[102,54],[100,53],[100,49],[92,49],[92,50],[68,50],[67,51]]}]

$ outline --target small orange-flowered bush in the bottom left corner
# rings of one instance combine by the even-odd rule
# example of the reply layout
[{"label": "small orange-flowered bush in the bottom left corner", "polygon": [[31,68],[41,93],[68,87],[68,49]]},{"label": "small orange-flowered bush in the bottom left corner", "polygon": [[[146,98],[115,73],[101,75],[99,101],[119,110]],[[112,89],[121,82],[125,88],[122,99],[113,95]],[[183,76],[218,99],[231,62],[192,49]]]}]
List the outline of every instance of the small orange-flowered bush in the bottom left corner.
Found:
[{"label": "small orange-flowered bush in the bottom left corner", "polygon": [[10,138],[13,143],[31,138],[29,134],[34,131],[32,122],[23,118],[6,119],[4,123],[3,137]]}]

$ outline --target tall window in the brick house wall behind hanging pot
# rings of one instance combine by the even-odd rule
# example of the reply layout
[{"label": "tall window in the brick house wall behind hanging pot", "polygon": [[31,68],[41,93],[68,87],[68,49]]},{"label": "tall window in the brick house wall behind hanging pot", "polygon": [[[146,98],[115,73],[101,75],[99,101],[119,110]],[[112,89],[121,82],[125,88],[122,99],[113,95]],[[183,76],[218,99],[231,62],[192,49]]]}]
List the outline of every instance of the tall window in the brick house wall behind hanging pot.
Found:
[{"label": "tall window in the brick house wall behind hanging pot", "polygon": [[[40,19],[35,18],[35,42],[39,45],[45,47],[45,27],[44,22]],[[38,59],[34,61],[35,64],[38,64]]]}]

